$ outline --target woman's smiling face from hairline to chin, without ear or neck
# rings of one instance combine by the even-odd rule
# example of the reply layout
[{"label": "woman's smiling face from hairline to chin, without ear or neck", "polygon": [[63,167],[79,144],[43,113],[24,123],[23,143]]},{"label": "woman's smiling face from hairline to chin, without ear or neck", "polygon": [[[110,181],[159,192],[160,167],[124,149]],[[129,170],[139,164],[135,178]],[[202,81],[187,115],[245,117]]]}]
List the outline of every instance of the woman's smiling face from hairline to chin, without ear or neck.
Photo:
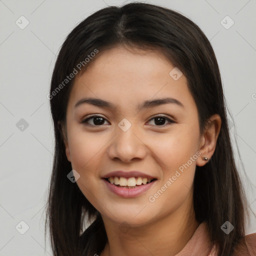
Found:
[{"label": "woman's smiling face from hairline to chin, without ear or neck", "polygon": [[[135,227],[192,203],[201,157],[198,114],[186,77],[173,68],[160,52],[118,46],[75,77],[66,156],[80,175],[80,190],[104,219]],[[163,98],[172,100],[155,101]],[[141,178],[152,180],[139,185]]]}]

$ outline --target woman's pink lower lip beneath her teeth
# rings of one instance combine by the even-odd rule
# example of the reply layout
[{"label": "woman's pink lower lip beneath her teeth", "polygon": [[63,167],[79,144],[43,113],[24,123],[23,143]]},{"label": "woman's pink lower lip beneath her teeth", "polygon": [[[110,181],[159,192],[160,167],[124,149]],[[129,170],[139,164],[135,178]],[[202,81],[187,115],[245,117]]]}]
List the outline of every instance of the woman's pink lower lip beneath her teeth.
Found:
[{"label": "woman's pink lower lip beneath her teeth", "polygon": [[116,185],[108,182],[105,179],[103,179],[103,181],[105,182],[106,186],[108,187],[108,189],[111,192],[113,192],[119,196],[122,196],[122,197],[130,198],[130,197],[139,196],[140,194],[142,194],[143,192],[148,190],[155,183],[156,180],[154,180],[150,183],[144,184],[144,185],[134,187],[134,188],[119,187],[119,186],[116,186]]}]

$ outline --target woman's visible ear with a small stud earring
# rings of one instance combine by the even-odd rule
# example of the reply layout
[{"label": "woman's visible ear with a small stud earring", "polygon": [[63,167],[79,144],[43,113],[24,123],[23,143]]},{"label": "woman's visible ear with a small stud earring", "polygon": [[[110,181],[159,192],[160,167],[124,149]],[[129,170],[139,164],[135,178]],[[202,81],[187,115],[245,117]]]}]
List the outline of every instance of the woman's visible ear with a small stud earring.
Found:
[{"label": "woman's visible ear with a small stud earring", "polygon": [[207,161],[203,160],[202,156],[207,157],[209,160],[214,153],[220,127],[221,118],[219,114],[211,115],[208,119],[206,129],[200,139],[199,151],[201,152],[201,155],[197,158],[196,165],[203,166]]}]

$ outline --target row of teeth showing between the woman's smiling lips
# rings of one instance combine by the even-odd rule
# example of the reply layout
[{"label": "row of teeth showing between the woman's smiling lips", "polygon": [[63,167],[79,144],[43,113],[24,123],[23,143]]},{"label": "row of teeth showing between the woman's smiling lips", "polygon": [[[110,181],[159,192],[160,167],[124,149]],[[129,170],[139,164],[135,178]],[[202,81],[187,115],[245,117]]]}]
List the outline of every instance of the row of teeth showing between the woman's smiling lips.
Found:
[{"label": "row of teeth showing between the woman's smiling lips", "polygon": [[109,177],[109,178],[105,178],[105,180],[107,180],[109,183],[114,184],[118,187],[122,187],[122,188],[135,188],[138,186],[142,186],[145,184],[148,184],[150,182],[153,182],[154,180],[156,180],[156,178],[146,178],[146,177],[129,177],[129,178],[125,178],[125,177]]}]

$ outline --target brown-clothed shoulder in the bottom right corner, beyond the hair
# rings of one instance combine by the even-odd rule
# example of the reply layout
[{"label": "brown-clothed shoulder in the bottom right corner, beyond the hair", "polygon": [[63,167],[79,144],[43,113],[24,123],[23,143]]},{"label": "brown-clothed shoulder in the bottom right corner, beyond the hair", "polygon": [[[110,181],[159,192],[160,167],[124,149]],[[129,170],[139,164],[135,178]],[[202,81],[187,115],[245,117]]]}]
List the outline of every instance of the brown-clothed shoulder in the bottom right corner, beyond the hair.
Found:
[{"label": "brown-clothed shoulder in the bottom right corner, beyond the hair", "polygon": [[255,256],[256,255],[256,233],[247,234],[242,237],[235,246],[232,256]]}]

